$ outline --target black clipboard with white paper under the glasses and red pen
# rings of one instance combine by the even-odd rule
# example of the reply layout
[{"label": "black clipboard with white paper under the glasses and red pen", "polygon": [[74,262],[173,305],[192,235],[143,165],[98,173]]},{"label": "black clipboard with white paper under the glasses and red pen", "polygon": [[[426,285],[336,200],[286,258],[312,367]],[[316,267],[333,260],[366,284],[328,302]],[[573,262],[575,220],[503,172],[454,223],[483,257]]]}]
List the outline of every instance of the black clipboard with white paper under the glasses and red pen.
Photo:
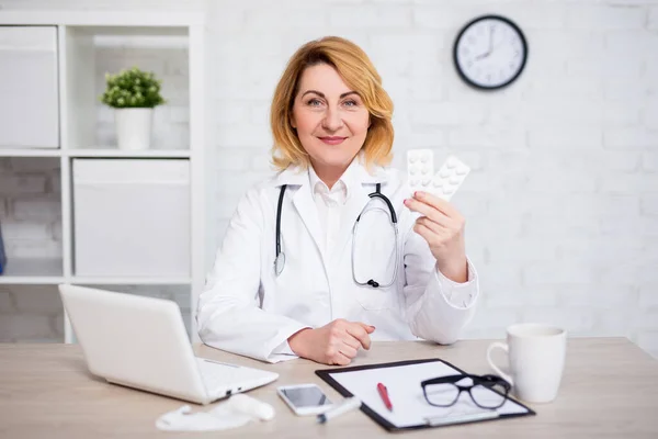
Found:
[{"label": "black clipboard with white paper under the glasses and red pen", "polygon": [[[342,396],[359,397],[362,401],[361,412],[387,431],[536,415],[533,409],[509,395],[502,407],[496,410],[477,407],[465,392],[462,392],[460,401],[453,407],[434,407],[427,404],[420,386],[421,381],[464,373],[466,372],[462,369],[439,358],[316,370],[316,375]],[[388,389],[393,412],[384,406],[377,393],[378,382]]]}]

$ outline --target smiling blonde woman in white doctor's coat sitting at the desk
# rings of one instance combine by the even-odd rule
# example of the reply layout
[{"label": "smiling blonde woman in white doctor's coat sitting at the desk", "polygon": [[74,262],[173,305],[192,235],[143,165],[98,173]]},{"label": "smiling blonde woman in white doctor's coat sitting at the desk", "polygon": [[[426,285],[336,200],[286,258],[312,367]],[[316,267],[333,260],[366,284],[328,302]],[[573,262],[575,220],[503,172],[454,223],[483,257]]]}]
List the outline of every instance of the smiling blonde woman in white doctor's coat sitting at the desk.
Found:
[{"label": "smiling blonde woman in white doctor's coat sitting at the desk", "polygon": [[325,37],[295,53],[271,109],[280,172],[230,221],[198,301],[205,344],[270,362],[349,364],[372,339],[458,338],[478,295],[464,218],[385,167],[392,113],[353,43]]}]

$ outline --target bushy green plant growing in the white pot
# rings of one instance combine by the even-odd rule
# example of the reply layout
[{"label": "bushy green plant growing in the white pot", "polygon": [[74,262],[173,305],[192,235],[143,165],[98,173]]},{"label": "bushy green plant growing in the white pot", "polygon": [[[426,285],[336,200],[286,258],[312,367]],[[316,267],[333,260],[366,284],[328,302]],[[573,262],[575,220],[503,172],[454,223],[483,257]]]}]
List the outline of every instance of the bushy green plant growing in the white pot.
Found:
[{"label": "bushy green plant growing in the white pot", "polygon": [[107,88],[100,97],[101,102],[115,109],[152,109],[164,103],[160,95],[161,81],[152,71],[133,67],[118,74],[105,74]]}]

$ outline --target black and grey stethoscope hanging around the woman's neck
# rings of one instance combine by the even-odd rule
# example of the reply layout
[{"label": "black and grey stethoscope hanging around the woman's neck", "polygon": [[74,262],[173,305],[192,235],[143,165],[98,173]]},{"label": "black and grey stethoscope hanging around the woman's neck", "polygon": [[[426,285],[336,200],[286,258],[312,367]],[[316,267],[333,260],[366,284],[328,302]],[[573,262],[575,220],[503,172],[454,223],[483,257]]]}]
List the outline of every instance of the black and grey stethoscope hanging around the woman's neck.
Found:
[{"label": "black and grey stethoscope hanging around the woman's neck", "polygon": [[[274,272],[276,273],[276,275],[280,275],[283,272],[283,269],[285,267],[285,254],[283,251],[281,251],[281,209],[283,205],[283,194],[285,193],[286,185],[287,184],[283,184],[281,187],[281,191],[279,193],[279,205],[276,206],[276,257],[274,258]],[[354,280],[354,283],[356,283],[360,286],[370,285],[372,288],[387,288],[387,286],[393,285],[393,283],[395,282],[395,280],[397,278],[397,269],[398,269],[398,263],[399,263],[397,216],[395,214],[395,209],[393,209],[393,204],[390,203],[390,200],[388,200],[388,198],[381,192],[381,188],[382,188],[382,184],[376,183],[375,192],[370,193],[368,196],[371,200],[378,198],[378,199],[383,200],[386,203],[386,205],[388,206],[388,213],[390,215],[387,215],[387,216],[388,216],[390,224],[393,226],[393,229],[395,232],[395,266],[394,266],[394,270],[393,270],[393,277],[390,278],[390,281],[386,284],[382,284],[382,283],[375,281],[374,279],[371,279],[367,282],[361,282],[356,279],[356,273],[354,272],[354,247],[355,247],[355,243],[356,243],[356,239],[355,239],[356,229],[359,227],[359,222],[361,219],[361,215],[363,215],[365,213],[367,205],[370,204],[371,200],[368,200],[368,203],[363,207],[363,210],[356,217],[356,221],[354,222],[354,227],[352,227],[352,279]],[[373,207],[372,210],[386,212],[382,207]]]}]

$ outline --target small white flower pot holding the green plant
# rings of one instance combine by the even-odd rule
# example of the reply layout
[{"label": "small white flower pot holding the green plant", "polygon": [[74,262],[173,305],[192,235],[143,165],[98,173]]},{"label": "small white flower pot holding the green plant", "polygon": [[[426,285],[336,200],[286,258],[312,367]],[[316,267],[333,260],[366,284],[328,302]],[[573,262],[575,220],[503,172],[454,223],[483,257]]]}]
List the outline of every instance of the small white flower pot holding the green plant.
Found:
[{"label": "small white flower pot holding the green plant", "polygon": [[148,149],[152,121],[154,109],[114,109],[118,149]]}]

